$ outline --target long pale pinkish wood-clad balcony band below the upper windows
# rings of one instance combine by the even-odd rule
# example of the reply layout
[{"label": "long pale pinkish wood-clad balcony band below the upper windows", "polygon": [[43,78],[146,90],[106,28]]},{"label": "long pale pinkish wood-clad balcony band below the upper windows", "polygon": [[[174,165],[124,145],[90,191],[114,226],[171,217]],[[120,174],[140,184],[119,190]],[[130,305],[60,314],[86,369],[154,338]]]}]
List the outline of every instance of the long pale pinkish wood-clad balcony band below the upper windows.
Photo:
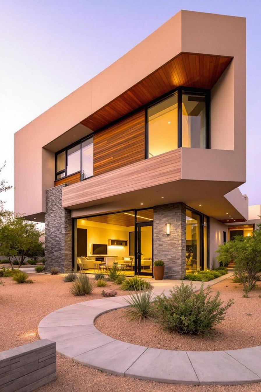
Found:
[{"label": "long pale pinkish wood-clad balcony band below the upper windows", "polygon": [[180,180],[181,152],[176,149],[115,169],[63,189],[63,207],[97,201],[131,191]]}]

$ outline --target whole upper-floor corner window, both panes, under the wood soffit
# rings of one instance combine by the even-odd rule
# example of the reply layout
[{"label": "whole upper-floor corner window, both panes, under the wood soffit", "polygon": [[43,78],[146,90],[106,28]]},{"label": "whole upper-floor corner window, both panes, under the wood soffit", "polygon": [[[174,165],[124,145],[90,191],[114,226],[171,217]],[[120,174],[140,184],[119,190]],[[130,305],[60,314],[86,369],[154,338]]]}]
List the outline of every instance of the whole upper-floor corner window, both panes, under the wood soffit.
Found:
[{"label": "whole upper-floor corner window, both panes, under the wood soffit", "polygon": [[209,148],[209,92],[178,88],[148,107],[147,158],[179,147]]}]

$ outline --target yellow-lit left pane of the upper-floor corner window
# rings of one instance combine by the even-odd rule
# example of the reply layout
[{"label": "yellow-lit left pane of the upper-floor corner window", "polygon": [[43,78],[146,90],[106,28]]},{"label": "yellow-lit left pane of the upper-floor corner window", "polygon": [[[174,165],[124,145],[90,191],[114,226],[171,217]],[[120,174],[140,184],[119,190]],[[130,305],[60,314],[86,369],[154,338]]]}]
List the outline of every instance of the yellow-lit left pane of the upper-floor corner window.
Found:
[{"label": "yellow-lit left pane of the upper-floor corner window", "polygon": [[148,109],[148,158],[178,148],[178,95]]}]

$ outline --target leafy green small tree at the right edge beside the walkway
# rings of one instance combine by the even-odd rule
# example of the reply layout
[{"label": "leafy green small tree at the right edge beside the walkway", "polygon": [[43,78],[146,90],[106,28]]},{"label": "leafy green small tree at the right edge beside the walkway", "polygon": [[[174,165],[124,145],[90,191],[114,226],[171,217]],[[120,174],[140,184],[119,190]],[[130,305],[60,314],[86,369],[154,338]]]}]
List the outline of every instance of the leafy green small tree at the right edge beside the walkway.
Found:
[{"label": "leafy green small tree at the right edge beside the walkway", "polygon": [[261,225],[251,237],[237,236],[232,241],[220,245],[218,261],[233,260],[235,271],[243,284],[244,296],[252,290],[259,280],[261,270]]}]

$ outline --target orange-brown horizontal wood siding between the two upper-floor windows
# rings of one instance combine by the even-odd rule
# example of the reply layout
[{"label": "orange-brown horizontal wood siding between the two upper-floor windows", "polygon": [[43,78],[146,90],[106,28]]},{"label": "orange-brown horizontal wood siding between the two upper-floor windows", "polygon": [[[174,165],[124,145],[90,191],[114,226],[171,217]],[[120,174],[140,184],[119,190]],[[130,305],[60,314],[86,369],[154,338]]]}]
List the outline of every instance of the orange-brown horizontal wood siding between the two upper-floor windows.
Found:
[{"label": "orange-brown horizontal wood siding between the two upper-floor windows", "polygon": [[94,176],[144,160],[145,112],[94,133]]}]

